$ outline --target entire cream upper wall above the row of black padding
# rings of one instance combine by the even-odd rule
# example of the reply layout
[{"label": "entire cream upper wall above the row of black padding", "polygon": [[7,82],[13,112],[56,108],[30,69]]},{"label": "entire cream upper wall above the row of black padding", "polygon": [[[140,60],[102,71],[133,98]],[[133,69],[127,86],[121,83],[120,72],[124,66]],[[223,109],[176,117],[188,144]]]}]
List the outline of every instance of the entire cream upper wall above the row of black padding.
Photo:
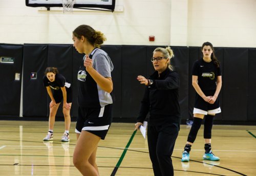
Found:
[{"label": "entire cream upper wall above the row of black padding", "polygon": [[[122,12],[41,11],[25,0],[0,0],[0,43],[73,43],[81,24],[102,31],[105,45],[256,48],[256,0],[116,0]],[[155,41],[148,41],[150,35]]]}]

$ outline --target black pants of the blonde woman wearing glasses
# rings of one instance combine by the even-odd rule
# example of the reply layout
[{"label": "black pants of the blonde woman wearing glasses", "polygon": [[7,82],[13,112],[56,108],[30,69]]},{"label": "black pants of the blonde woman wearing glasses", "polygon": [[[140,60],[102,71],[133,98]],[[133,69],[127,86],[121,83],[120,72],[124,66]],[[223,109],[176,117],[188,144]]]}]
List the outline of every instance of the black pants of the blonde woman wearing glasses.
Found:
[{"label": "black pants of the blonde woman wearing glasses", "polygon": [[148,126],[147,143],[155,176],[174,175],[172,158],[178,137],[178,123]]}]

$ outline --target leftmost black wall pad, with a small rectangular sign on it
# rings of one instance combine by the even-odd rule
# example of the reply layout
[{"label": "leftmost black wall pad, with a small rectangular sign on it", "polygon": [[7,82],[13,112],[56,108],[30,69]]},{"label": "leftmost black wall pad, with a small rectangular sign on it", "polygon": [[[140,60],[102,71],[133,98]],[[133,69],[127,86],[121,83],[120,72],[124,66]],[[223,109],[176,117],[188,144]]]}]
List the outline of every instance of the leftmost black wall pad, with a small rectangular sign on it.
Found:
[{"label": "leftmost black wall pad, with a small rectangular sign on it", "polygon": [[[14,63],[0,62],[0,114],[19,116],[22,84],[23,45],[0,44],[0,57],[12,57]],[[20,74],[15,80],[15,73]]]}]

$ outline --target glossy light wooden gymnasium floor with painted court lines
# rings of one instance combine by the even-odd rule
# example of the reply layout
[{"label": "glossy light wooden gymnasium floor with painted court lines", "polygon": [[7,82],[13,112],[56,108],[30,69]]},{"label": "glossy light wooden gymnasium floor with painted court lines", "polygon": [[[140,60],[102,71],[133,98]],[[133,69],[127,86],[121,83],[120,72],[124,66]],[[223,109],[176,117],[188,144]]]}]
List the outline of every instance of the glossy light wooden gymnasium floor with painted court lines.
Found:
[{"label": "glossy light wooden gymnasium floor with painted court lines", "polygon": [[[0,121],[0,175],[81,175],[72,156],[75,122],[69,143],[60,141],[64,123],[56,122],[53,143],[44,143],[48,122]],[[181,162],[189,126],[182,125],[172,156],[175,175],[256,175],[256,126],[214,125],[212,149],[221,161],[203,161],[203,126],[190,152]],[[97,152],[101,176],[154,175],[147,141],[132,123],[113,123]]]}]

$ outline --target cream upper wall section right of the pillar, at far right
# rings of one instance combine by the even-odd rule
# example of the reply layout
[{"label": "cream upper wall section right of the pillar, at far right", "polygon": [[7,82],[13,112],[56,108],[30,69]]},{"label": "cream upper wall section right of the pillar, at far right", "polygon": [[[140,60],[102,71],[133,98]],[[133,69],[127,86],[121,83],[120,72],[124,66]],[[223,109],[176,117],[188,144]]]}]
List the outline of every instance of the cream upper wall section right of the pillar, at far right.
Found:
[{"label": "cream upper wall section right of the pillar, at far right", "polygon": [[256,0],[188,2],[188,46],[256,47]]}]

